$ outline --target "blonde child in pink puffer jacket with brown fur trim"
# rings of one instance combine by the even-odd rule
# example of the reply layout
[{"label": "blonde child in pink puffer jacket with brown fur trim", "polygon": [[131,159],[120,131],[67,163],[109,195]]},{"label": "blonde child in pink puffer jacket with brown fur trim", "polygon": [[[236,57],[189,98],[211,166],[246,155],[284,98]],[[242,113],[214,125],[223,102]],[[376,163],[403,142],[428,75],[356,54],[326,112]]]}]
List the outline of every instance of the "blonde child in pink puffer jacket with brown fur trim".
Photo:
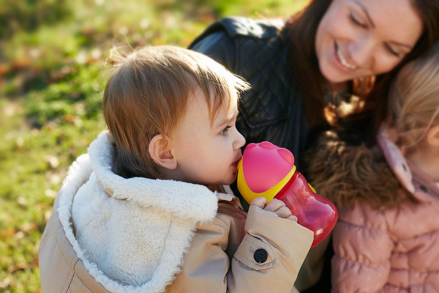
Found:
[{"label": "blonde child in pink puffer jacket with brown fur trim", "polygon": [[377,147],[327,133],[311,164],[338,206],[334,292],[439,292],[439,43],[390,93]]}]

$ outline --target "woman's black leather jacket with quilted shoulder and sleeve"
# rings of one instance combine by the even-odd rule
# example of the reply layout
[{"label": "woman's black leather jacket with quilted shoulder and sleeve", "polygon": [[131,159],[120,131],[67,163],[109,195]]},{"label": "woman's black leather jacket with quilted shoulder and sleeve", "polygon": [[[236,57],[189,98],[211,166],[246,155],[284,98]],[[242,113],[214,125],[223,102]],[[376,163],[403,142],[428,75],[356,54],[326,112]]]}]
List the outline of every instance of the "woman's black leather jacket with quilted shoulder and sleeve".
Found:
[{"label": "woman's black leather jacket with quilted shoulder and sleeve", "polygon": [[223,18],[189,48],[209,55],[252,85],[241,95],[237,119],[237,129],[247,144],[270,141],[288,148],[300,170],[309,127],[281,30],[263,20]]}]

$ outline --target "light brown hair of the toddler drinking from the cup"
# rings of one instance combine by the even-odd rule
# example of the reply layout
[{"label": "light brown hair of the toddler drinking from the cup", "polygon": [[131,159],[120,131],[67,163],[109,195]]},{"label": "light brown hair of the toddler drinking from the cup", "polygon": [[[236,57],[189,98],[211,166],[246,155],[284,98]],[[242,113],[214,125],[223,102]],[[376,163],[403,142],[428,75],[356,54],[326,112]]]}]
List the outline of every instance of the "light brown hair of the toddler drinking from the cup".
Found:
[{"label": "light brown hair of the toddler drinking from the cup", "polygon": [[144,47],[130,54],[112,51],[114,68],[102,107],[114,140],[114,171],[125,178],[161,178],[148,145],[157,134],[169,136],[197,88],[205,96],[211,125],[219,109],[249,88],[211,58],[173,46]]}]

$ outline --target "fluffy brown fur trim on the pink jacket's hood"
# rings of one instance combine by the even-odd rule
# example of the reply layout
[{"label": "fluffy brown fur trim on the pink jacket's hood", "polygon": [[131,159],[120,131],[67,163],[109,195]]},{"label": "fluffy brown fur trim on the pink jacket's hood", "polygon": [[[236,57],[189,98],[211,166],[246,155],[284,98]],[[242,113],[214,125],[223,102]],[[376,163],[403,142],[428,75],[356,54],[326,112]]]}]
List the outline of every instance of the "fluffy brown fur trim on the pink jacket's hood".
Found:
[{"label": "fluffy brown fur trim on the pink jacket's hood", "polygon": [[378,147],[350,146],[334,131],[327,131],[305,156],[309,182],[338,207],[361,200],[381,209],[414,200]]}]

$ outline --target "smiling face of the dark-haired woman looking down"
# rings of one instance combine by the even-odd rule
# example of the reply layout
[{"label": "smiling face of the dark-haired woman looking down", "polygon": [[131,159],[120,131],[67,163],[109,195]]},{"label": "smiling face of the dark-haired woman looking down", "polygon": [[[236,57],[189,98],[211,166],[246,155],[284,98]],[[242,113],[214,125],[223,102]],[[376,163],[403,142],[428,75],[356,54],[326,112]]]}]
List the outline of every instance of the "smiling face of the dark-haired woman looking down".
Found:
[{"label": "smiling face of the dark-haired woman looking down", "polygon": [[422,29],[410,0],[334,0],[316,34],[320,71],[333,83],[388,72],[410,53]]}]

